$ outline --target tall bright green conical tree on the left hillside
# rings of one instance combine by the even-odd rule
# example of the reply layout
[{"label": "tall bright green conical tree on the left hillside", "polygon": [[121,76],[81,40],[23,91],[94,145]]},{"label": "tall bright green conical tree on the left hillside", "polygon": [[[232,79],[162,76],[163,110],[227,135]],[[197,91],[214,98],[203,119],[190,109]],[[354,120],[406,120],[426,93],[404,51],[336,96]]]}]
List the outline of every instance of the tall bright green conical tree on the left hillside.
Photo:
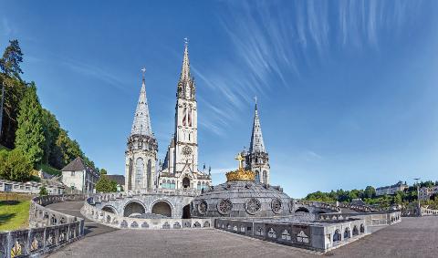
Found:
[{"label": "tall bright green conical tree on the left hillside", "polygon": [[16,129],[16,149],[26,156],[36,168],[44,155],[43,108],[36,95],[36,86],[31,83],[25,97],[20,101],[18,129]]}]

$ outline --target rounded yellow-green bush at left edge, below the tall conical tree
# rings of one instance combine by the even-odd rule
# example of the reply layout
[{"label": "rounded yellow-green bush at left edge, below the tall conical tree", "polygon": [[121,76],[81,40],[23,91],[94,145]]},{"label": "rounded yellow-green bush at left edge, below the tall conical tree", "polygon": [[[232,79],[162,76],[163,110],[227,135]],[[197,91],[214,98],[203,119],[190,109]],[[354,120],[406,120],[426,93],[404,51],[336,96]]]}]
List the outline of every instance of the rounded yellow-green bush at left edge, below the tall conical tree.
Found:
[{"label": "rounded yellow-green bush at left edge, below the tall conical tree", "polygon": [[28,181],[32,163],[20,150],[0,151],[0,177],[9,181]]}]

